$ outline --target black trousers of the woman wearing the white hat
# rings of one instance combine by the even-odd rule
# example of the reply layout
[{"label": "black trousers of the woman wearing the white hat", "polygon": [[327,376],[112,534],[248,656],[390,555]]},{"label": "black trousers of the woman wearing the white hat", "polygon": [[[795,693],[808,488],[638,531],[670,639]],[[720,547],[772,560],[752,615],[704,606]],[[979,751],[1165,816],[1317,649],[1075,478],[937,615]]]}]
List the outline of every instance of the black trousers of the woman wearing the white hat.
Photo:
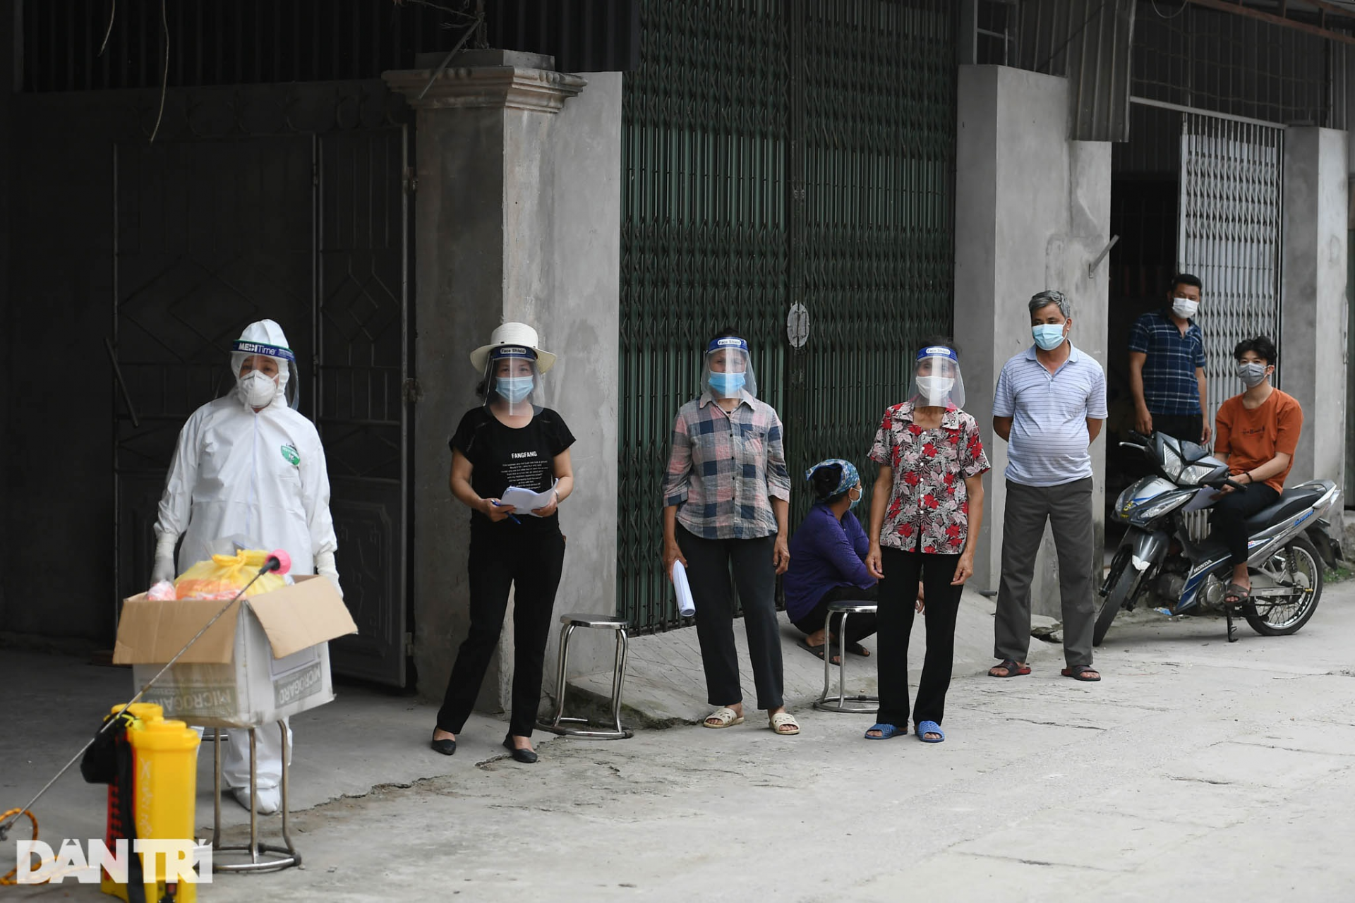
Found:
[{"label": "black trousers of the woman wearing the white hat", "polygon": [[541,707],[541,676],[546,663],[556,589],[565,563],[565,537],[560,529],[539,535],[515,532],[470,536],[470,632],[457,663],[451,666],[447,692],[438,709],[438,727],[459,734],[485,681],[489,659],[499,647],[508,589],[514,590],[512,711],[508,732],[531,736]]}]

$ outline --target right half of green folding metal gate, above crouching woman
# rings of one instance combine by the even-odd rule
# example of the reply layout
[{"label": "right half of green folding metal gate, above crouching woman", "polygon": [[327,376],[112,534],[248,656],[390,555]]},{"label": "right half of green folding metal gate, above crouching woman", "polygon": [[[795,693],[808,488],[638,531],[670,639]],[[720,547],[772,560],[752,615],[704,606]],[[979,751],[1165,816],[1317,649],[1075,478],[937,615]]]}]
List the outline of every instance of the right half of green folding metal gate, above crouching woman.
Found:
[{"label": "right half of green folding metal gate, above crouching woman", "polygon": [[[808,336],[791,355],[791,474],[856,464],[904,399],[912,351],[951,326],[955,66],[951,4],[805,4],[797,104],[793,294]],[[810,505],[793,495],[791,525]]]}]

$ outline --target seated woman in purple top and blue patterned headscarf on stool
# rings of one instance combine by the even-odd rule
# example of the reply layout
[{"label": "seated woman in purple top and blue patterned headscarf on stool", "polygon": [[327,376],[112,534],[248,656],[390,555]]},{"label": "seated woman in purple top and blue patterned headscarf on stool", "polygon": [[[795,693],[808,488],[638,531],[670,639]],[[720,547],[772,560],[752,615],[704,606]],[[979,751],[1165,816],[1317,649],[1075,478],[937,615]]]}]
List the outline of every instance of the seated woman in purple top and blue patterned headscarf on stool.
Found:
[{"label": "seated woman in purple top and blue patterned headscarf on stool", "polygon": [[[866,570],[870,540],[851,513],[862,497],[860,478],[851,462],[832,458],[805,472],[814,490],[814,506],[790,540],[790,567],[786,570],[786,615],[806,634],[799,640],[818,658],[824,643],[837,642],[841,616],[833,617],[833,635],[824,635],[828,604],[844,600],[877,601],[875,578]],[[860,640],[875,632],[874,615],[852,615],[847,620],[847,650],[870,655]],[[837,657],[833,655],[833,663]]]}]

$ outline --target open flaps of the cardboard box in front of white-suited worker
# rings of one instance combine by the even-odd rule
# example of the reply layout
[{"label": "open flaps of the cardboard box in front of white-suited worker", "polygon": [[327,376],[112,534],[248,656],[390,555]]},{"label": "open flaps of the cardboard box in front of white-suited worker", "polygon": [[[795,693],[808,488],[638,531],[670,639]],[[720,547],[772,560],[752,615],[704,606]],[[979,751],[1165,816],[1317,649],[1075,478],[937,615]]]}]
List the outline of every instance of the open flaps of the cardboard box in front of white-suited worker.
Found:
[{"label": "open flaps of the cardboard box in front of white-suited worker", "polygon": [[[274,658],[283,658],[317,643],[356,634],[348,608],[324,577],[314,574],[297,577],[295,583],[248,600],[264,634]],[[118,620],[118,640],[112,651],[114,665],[161,665],[175,657],[202,625],[224,605],[220,600],[186,598],[172,602],[153,602],[145,593],[133,596],[122,605]],[[234,655],[236,602],[202,638],[184,653],[180,662],[226,663]]]}]

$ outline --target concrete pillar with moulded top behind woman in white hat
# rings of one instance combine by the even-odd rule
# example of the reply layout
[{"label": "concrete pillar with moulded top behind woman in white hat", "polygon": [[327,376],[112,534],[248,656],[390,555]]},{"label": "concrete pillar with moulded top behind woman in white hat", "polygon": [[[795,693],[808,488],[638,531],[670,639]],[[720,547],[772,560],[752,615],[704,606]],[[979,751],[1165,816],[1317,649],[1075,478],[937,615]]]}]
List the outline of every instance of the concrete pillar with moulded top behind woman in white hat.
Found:
[{"label": "concrete pillar with moulded top behind woman in white hat", "polygon": [[[535,326],[560,355],[546,403],[577,437],[557,613],[615,611],[621,76],[489,50],[458,57],[427,92],[432,70],[383,77],[417,110],[413,632],[419,689],[436,697],[469,624],[469,513],[447,490],[447,440],[478,403],[467,356],[500,322]],[[577,666],[599,648],[584,642]],[[511,650],[509,608],[482,708],[509,700]]]}]

